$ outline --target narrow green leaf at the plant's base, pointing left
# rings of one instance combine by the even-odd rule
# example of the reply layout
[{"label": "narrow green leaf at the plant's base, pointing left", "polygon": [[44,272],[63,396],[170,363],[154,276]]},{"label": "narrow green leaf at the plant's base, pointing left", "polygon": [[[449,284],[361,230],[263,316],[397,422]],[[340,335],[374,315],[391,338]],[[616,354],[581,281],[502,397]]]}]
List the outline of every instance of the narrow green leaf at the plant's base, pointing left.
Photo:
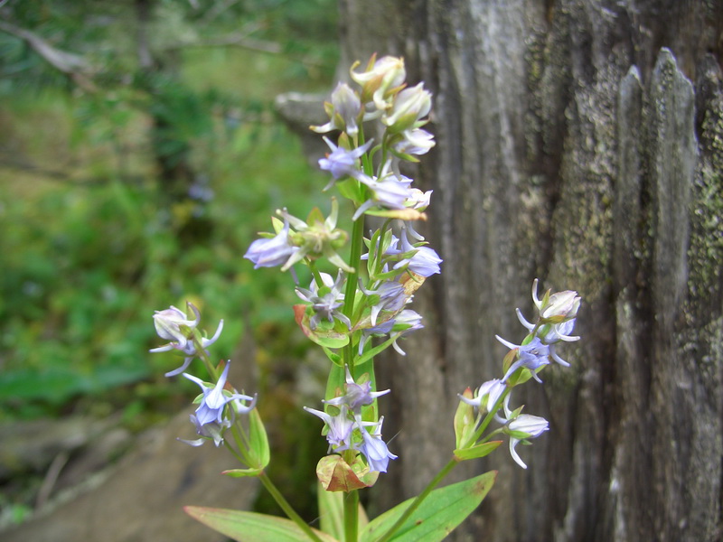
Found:
[{"label": "narrow green leaf at the plant's base, pointing left", "polygon": [[[237,542],[308,542],[301,528],[290,519],[242,510],[186,506],[186,514],[207,527]],[[323,542],[338,542],[321,531],[312,529]]]}]

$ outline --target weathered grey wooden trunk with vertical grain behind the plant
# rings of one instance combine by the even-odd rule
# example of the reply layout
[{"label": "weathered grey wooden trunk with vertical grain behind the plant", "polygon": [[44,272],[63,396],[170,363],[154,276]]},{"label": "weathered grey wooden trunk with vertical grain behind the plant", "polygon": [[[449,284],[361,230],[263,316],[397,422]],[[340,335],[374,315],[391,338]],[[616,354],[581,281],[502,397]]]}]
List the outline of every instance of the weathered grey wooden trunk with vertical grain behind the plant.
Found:
[{"label": "weathered grey wooden trunk with vertical grain behind the plant", "polygon": [[[530,285],[576,289],[571,369],[515,391],[550,431],[456,540],[717,540],[723,450],[723,3],[341,0],[343,61],[405,57],[435,94],[445,258],[427,328],[380,364],[400,459],[386,506],[446,462],[456,394],[501,374]],[[393,405],[390,406],[390,403]],[[459,475],[470,471],[461,470]]]}]

